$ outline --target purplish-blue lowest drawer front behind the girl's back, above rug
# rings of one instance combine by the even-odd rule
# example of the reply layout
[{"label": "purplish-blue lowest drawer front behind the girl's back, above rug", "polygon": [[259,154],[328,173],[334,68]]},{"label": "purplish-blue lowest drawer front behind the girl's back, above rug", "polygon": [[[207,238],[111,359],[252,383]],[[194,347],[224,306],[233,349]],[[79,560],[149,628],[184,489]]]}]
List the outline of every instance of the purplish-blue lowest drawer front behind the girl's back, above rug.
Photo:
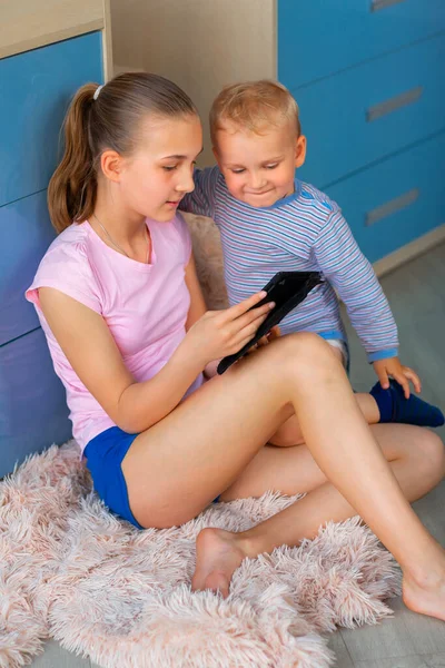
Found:
[{"label": "purplish-blue lowest drawer front behind the girl's back, above rug", "polygon": [[0,477],[30,452],[71,436],[65,387],[42,330],[0,347]]}]

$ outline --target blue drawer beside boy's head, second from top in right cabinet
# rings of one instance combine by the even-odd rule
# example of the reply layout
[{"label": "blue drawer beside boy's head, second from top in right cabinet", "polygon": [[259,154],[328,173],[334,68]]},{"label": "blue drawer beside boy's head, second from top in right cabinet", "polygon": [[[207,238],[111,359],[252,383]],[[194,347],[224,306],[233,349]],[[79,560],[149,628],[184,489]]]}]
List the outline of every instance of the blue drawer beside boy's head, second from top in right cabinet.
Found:
[{"label": "blue drawer beside boy's head, second from top in right cabinet", "polygon": [[301,178],[326,187],[445,129],[445,36],[296,92],[308,153]]}]

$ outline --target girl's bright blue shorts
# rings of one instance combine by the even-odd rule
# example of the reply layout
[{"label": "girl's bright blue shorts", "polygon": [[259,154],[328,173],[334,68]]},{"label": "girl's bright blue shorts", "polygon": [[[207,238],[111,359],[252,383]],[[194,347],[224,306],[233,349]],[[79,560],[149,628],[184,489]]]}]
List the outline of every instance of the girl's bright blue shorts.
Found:
[{"label": "girl's bright blue shorts", "polygon": [[110,426],[87,444],[83,455],[95,490],[108,508],[138,529],[144,529],[131,512],[121,463],[136,436]]}]

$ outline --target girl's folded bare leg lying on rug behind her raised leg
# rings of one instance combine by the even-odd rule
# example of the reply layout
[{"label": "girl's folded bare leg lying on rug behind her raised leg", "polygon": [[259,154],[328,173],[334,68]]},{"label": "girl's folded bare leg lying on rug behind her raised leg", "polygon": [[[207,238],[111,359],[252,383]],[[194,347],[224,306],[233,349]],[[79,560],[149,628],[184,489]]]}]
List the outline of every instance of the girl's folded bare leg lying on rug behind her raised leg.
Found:
[{"label": "girl's folded bare leg lying on rug behind her raised leg", "polygon": [[[373,432],[408,501],[419,499],[442,480],[445,451],[438,436],[425,429],[398,424],[376,425]],[[227,593],[233,571],[245,557],[270,552],[284,543],[298,544],[303,538],[315,537],[327,520],[342,521],[356,514],[326,480],[305,445],[264,448],[224,492],[221,500],[260,495],[266,490],[287,494],[307,492],[307,495],[248,531],[201,531],[197,542],[195,588]],[[412,607],[415,607],[414,601]],[[425,611],[419,609],[419,602],[417,609]]]}]

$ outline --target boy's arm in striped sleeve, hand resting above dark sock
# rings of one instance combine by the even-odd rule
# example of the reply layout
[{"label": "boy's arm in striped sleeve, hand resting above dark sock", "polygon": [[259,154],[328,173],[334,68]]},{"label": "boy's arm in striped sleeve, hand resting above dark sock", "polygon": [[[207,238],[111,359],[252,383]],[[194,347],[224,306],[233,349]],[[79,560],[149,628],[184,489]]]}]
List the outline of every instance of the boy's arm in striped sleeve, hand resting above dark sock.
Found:
[{"label": "boy's arm in striped sleeve, hand resting above dark sock", "polygon": [[382,386],[389,386],[390,375],[403,385],[406,396],[409,396],[408,380],[419,392],[417,375],[398,360],[397,326],[388,301],[338,209],[328,216],[314,253],[320,271],[345,303]]}]

